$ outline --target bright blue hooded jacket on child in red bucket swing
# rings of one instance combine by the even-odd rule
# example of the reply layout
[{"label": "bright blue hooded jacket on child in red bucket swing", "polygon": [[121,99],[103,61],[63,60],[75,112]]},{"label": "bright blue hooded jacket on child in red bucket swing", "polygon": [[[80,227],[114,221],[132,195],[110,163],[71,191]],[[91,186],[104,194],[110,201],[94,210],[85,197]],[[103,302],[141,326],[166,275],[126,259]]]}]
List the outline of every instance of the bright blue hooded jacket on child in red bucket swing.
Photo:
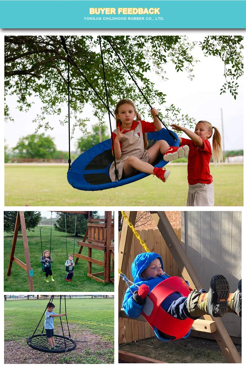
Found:
[{"label": "bright blue hooded jacket on child in red bucket swing", "polygon": [[[162,282],[163,280],[166,280],[167,278],[171,277],[171,276],[167,275],[165,272],[164,272],[164,275],[159,275],[158,277],[152,277],[151,276],[151,277],[148,277],[148,279],[144,279],[141,276],[142,272],[156,258],[159,258],[160,264],[162,266],[162,270],[164,272],[162,258],[159,254],[153,253],[153,252],[148,252],[148,253],[140,253],[136,256],[136,258],[134,259],[134,261],[131,265],[131,274],[133,275],[134,284],[136,284],[138,286],[140,286],[142,284],[146,284],[146,285],[148,285],[149,290],[152,291],[153,288],[156,285],[158,285],[160,282]],[[133,299],[133,294],[131,293],[131,291],[134,293],[134,291],[138,290],[138,288],[134,285],[132,285],[130,288],[131,288],[131,290],[129,288],[126,290],[126,294],[125,294],[124,300],[123,300],[123,308],[124,308],[124,311],[126,312],[126,314],[130,318],[138,318],[142,313],[143,305],[137,304]],[[174,300],[177,300],[180,297],[181,297],[180,293],[172,293],[169,297],[167,297],[162,302],[162,304],[161,304],[162,308],[167,312],[170,305],[172,304],[172,302]],[[164,339],[163,337],[160,337],[158,329],[155,326],[154,326],[154,332],[155,332],[155,335],[158,337],[158,339],[163,340],[163,341],[171,341],[171,339]],[[184,338],[188,337],[190,332],[191,331],[189,331],[187,333],[187,335],[184,336]]]}]

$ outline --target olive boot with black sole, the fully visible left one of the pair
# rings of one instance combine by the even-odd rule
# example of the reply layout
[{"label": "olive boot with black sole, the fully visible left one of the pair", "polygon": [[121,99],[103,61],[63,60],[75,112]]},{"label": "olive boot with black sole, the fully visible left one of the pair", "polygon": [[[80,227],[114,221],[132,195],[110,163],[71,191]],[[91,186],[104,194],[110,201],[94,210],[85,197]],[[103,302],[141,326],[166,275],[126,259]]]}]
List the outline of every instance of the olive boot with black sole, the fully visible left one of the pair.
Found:
[{"label": "olive boot with black sole, the fully visible left one of the pair", "polygon": [[227,298],[229,296],[229,283],[223,275],[211,278],[208,293],[192,291],[187,298],[187,309],[192,317],[209,314],[221,317],[228,312]]}]

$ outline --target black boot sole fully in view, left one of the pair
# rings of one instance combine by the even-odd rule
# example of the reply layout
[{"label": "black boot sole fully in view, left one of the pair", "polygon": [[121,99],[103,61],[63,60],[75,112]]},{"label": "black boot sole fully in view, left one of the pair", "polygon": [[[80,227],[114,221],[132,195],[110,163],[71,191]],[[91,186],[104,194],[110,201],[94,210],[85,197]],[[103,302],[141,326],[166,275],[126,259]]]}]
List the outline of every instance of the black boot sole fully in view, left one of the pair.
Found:
[{"label": "black boot sole fully in view, left one of the pair", "polygon": [[223,275],[215,275],[211,278],[207,302],[208,314],[214,317],[222,317],[228,312],[227,298],[229,292],[229,283]]}]

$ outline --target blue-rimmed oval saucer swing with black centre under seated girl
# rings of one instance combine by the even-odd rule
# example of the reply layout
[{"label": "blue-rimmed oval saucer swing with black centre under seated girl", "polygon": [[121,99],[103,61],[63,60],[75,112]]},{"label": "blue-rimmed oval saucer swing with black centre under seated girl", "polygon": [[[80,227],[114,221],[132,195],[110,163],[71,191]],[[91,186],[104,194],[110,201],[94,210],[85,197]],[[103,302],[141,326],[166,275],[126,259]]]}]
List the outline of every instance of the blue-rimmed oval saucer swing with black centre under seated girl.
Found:
[{"label": "blue-rimmed oval saucer swing with black centre under seated girl", "polygon": [[[161,139],[167,141],[170,146],[179,146],[180,141],[178,136],[174,132],[173,134],[177,141],[171,137],[165,128],[162,128],[162,130],[158,132],[148,133],[147,138],[149,147]],[[117,182],[111,181],[109,177],[109,168],[112,162],[111,139],[107,139],[82,153],[82,155],[71,164],[71,170],[68,170],[67,174],[68,182],[73,188],[79,190],[96,191],[120,187],[121,185],[133,183],[149,175],[138,173],[130,178],[121,179]],[[163,156],[159,155],[153,166],[163,167],[166,164],[167,162],[163,160]]]}]

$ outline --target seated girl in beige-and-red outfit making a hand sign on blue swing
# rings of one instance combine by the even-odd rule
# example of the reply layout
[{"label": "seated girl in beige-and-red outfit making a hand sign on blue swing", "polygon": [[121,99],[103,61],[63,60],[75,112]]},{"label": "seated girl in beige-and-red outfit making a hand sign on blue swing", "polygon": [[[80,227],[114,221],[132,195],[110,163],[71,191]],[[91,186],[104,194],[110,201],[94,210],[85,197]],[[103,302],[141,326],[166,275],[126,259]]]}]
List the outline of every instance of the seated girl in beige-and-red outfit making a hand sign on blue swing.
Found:
[{"label": "seated girl in beige-and-red outfit making a hand sign on blue swing", "polygon": [[[151,110],[153,123],[141,120],[140,115],[131,100],[120,100],[115,109],[116,129],[112,132],[113,147],[115,151],[116,167],[118,170],[118,179],[128,178],[140,171],[142,173],[153,174],[165,182],[170,175],[170,170],[164,167],[153,167],[153,163],[161,153],[166,155],[171,149],[176,152],[176,158],[188,155],[189,147],[187,145],[180,147],[170,147],[169,144],[160,140],[151,148],[148,148],[146,133],[159,131],[162,128],[158,119],[158,111]],[[135,119],[136,118],[136,119]],[[112,181],[115,181],[115,164],[111,164],[109,175]]]}]

